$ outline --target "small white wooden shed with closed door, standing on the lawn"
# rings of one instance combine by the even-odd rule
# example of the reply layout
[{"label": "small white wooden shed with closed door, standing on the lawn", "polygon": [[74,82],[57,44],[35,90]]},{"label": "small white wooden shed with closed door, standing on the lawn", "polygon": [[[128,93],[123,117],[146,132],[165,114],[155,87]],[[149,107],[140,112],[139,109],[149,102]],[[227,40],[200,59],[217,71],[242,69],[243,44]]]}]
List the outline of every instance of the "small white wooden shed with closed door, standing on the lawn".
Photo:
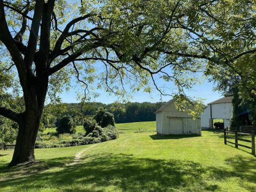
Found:
[{"label": "small white wooden shed with closed door, standing on the lawn", "polygon": [[155,112],[157,134],[201,135],[200,118],[193,119],[187,111],[179,111],[175,108],[174,102],[174,99],[168,101]]}]

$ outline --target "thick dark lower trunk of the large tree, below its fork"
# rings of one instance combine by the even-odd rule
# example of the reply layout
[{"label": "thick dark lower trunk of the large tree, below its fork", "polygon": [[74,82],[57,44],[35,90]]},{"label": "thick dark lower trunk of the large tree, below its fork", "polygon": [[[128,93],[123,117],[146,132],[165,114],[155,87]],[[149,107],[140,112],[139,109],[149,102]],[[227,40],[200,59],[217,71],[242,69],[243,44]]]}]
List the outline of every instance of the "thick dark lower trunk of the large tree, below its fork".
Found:
[{"label": "thick dark lower trunk of the large tree, below its fork", "polygon": [[9,166],[35,162],[35,142],[43,114],[44,101],[48,87],[48,78],[40,82],[30,82],[24,94],[26,111],[19,122],[18,137]]}]

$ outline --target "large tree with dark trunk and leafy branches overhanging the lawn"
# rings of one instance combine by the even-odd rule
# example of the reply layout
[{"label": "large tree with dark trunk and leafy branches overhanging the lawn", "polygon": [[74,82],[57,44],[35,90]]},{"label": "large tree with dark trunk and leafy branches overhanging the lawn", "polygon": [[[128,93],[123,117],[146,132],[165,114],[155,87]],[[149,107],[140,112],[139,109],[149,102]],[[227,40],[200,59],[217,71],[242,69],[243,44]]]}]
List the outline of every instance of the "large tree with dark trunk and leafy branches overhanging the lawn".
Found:
[{"label": "large tree with dark trunk and leafy branches overhanging the lawn", "polygon": [[[184,94],[195,73],[219,65],[242,77],[234,63],[256,51],[252,42],[241,46],[254,34],[255,23],[241,27],[254,21],[254,9],[235,0],[0,0],[1,72],[17,74],[25,101],[22,111],[0,106],[0,115],[19,124],[10,166],[35,161],[46,94],[56,99],[70,75],[85,86],[85,99],[95,78],[98,88],[124,97],[153,87],[161,95]],[[241,42],[230,45],[236,38]],[[165,92],[156,78],[177,89]]]}]

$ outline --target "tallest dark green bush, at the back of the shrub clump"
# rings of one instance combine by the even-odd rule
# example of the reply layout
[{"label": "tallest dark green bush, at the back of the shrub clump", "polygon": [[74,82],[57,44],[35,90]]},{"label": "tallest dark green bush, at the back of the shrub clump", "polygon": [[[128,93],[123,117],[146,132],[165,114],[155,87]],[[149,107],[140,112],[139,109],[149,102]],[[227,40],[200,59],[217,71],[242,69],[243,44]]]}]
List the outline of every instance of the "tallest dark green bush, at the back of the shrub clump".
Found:
[{"label": "tallest dark green bush, at the back of the shrub clump", "polygon": [[106,109],[103,109],[100,107],[95,116],[93,117],[95,121],[100,125],[101,127],[106,127],[108,125],[115,126],[115,118],[114,115],[109,113]]}]

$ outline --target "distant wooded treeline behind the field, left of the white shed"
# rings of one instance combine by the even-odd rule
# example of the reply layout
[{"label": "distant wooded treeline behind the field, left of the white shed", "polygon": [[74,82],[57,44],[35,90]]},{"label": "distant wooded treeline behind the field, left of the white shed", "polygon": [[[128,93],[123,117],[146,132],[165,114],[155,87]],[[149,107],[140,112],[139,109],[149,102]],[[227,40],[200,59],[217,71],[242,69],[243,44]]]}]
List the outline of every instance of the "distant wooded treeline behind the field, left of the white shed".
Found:
[{"label": "distant wooded treeline behind the field, left of the white shed", "polygon": [[116,123],[155,121],[156,115],[154,113],[160,106],[160,102],[127,102],[108,105],[101,102],[86,102],[83,104],[61,103],[59,105],[47,105],[44,109],[42,123],[45,127],[57,126],[60,118],[69,115],[75,119],[77,125],[80,125],[85,116],[95,115],[100,107],[114,114]]}]

